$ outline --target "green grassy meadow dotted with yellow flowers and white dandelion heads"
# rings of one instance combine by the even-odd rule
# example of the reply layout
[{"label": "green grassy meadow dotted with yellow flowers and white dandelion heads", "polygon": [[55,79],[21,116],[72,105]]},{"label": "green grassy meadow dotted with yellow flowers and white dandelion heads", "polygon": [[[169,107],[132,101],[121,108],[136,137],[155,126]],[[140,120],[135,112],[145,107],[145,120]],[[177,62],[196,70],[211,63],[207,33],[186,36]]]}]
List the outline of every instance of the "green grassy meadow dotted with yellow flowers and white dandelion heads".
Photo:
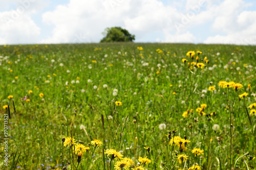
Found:
[{"label": "green grassy meadow dotted with yellow flowers and white dandelion heads", "polygon": [[11,45],[0,56],[0,169],[256,168],[256,46]]}]

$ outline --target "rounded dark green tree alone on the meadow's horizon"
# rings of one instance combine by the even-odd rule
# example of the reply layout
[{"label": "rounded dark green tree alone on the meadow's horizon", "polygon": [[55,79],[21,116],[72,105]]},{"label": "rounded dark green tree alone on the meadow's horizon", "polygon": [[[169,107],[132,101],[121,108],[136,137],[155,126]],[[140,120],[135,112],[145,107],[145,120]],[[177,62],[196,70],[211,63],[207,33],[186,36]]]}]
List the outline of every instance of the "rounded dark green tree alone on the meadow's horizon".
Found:
[{"label": "rounded dark green tree alone on the meadow's horizon", "polygon": [[102,34],[104,37],[100,42],[132,42],[135,40],[135,35],[130,34],[121,27],[106,28]]}]

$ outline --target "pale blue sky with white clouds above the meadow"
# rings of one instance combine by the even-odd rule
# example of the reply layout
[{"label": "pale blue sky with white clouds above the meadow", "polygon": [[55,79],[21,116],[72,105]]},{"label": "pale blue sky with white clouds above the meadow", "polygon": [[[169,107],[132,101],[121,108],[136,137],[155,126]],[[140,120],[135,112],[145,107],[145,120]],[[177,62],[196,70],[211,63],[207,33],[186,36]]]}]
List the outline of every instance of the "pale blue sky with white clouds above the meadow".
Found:
[{"label": "pale blue sky with white clouds above the meadow", "polygon": [[0,0],[0,45],[97,43],[107,27],[135,42],[256,44],[254,0]]}]

